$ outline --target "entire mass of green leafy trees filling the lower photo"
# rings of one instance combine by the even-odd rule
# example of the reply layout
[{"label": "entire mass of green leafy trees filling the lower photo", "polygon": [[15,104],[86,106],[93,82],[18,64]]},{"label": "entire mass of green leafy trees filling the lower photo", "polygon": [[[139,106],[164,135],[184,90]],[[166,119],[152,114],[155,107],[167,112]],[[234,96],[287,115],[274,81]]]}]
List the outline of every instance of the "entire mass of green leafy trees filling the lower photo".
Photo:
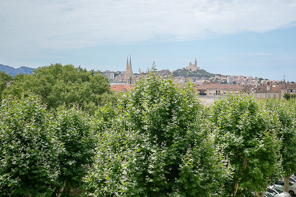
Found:
[{"label": "entire mass of green leafy trees filling the lower photo", "polygon": [[[63,83],[85,87],[96,76],[79,72],[81,83]],[[41,76],[20,78],[61,82]],[[152,73],[93,112],[77,100],[53,105],[35,83],[14,83],[0,108],[0,196],[67,196],[79,188],[79,196],[263,197],[280,175],[288,183],[296,171],[294,99],[241,95],[203,106],[191,84]]]}]

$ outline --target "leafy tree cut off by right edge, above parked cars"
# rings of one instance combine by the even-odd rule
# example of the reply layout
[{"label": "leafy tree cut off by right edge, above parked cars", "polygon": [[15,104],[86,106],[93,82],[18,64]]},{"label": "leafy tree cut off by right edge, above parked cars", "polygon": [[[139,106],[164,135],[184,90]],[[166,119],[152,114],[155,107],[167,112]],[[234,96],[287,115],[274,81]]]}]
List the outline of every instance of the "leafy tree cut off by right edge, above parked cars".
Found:
[{"label": "leafy tree cut off by right edge, above parked cars", "polygon": [[[264,101],[266,109],[273,113],[280,122],[278,138],[281,139],[280,154],[282,157],[284,190],[289,192],[289,178],[296,172],[296,105],[295,99],[279,100],[266,99]],[[290,191],[291,196],[294,191]]]}]

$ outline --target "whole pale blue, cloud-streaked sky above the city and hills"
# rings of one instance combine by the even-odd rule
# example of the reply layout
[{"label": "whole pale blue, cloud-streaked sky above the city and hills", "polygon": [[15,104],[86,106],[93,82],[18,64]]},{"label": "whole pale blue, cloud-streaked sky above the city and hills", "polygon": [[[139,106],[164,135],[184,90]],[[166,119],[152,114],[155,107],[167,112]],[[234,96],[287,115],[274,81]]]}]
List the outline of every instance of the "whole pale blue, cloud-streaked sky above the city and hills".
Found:
[{"label": "whole pale blue, cloud-streaked sky above the city and hills", "polygon": [[0,64],[134,73],[189,62],[296,81],[296,1],[0,0]]}]

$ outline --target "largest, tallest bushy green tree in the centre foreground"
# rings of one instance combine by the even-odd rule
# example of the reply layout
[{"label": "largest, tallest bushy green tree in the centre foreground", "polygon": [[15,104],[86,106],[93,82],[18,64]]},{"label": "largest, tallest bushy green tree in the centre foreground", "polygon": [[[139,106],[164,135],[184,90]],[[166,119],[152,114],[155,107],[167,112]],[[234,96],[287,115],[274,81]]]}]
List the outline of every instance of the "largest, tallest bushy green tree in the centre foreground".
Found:
[{"label": "largest, tallest bushy green tree in the centre foreground", "polygon": [[219,196],[229,177],[223,153],[191,85],[177,88],[155,73],[119,105],[99,109],[89,196]]}]

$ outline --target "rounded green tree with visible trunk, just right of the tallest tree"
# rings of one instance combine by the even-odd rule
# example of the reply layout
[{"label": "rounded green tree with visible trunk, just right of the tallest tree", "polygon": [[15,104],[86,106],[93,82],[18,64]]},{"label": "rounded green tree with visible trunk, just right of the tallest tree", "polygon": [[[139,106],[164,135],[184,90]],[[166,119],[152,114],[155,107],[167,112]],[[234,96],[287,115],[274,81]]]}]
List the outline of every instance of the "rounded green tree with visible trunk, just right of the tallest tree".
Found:
[{"label": "rounded green tree with visible trunk, just right of the tallest tree", "polygon": [[[233,181],[226,190],[237,194],[265,192],[279,169],[279,123],[252,97],[229,96],[212,107],[212,120],[220,128],[217,142],[223,145],[234,167]],[[244,162],[246,162],[244,167]]]}]

